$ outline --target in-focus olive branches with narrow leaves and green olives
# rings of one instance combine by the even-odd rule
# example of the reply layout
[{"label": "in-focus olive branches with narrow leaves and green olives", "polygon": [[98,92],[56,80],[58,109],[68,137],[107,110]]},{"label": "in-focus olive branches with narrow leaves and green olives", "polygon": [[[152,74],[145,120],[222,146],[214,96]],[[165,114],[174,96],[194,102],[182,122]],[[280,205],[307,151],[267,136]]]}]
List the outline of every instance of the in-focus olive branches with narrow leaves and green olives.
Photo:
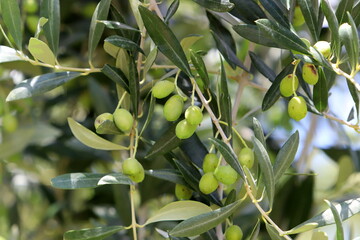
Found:
[{"label": "in-focus olive branches with narrow leaves and green olives", "polygon": [[[81,155],[71,154],[73,144],[87,152],[85,158],[113,164],[60,170],[48,181],[52,189],[66,192],[111,185],[107,189],[114,192],[117,215],[116,220],[100,216],[101,221],[84,229],[66,229],[64,239],[114,234],[223,239],[232,225],[239,225],[246,239],[292,239],[331,224],[336,225],[337,239],[345,239],[342,222],[359,213],[359,192],[348,196],[343,191],[340,203],[327,201],[327,209],[315,215],[311,207],[316,173],[304,168],[307,162],[293,164],[302,142],[299,132],[291,128],[276,149],[268,126],[269,113],[280,103],[287,106],[288,114],[281,114],[288,126],[298,126],[291,123],[308,121],[302,119],[311,115],[360,132],[359,2],[340,0],[334,8],[328,0],[101,0],[91,12],[77,61],[69,60],[75,54],[61,41],[64,2],[42,0],[35,11],[39,18],[34,34],[28,37],[23,34],[23,21],[29,18],[23,5],[1,0],[0,46],[0,63],[25,64],[20,71],[27,76],[6,92],[1,158],[24,149],[35,152],[29,145],[41,146],[40,139],[46,137],[41,131],[53,128],[45,123],[41,128],[40,122],[26,131],[16,126],[5,131],[5,116],[11,115],[8,104],[39,101],[59,87],[68,91],[56,101],[48,100],[44,109],[51,101],[56,106],[67,98],[78,100],[74,95],[81,95],[84,83],[91,94],[95,113],[63,111],[68,127],[52,129],[51,139],[77,139],[57,146],[66,159]],[[197,15],[185,15],[187,11]],[[182,36],[182,31],[192,35]],[[209,61],[210,49],[217,50],[215,67],[214,59]],[[269,58],[274,52],[281,57]],[[347,119],[329,109],[337,82],[347,83],[346,94],[353,100]],[[248,89],[253,96],[245,99]],[[121,114],[113,114],[119,108]],[[103,113],[95,128],[89,124],[94,114]],[[10,151],[17,141],[22,145]],[[50,157],[46,153],[56,146],[43,146],[43,157]],[[359,171],[356,151],[349,152],[354,160],[350,165]],[[213,166],[204,164],[209,153],[218,159]],[[171,197],[161,205],[167,188],[175,186],[180,200]],[[161,205],[154,213],[146,212],[145,200],[150,198]],[[314,232],[313,239],[317,236]],[[325,234],[322,238],[327,239]]]}]

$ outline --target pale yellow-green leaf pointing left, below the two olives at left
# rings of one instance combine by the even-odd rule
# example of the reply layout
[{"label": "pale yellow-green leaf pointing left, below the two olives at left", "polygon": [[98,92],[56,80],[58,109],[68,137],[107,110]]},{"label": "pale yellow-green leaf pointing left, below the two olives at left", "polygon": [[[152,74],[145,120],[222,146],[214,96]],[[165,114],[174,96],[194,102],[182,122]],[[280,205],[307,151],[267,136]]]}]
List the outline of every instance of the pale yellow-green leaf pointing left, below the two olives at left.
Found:
[{"label": "pale yellow-green leaf pointing left, below the two olives at left", "polygon": [[76,122],[72,118],[68,118],[70,129],[74,136],[83,144],[88,147],[100,149],[100,150],[124,150],[127,149],[124,146],[110,142],[94,132],[90,131],[80,123]]}]

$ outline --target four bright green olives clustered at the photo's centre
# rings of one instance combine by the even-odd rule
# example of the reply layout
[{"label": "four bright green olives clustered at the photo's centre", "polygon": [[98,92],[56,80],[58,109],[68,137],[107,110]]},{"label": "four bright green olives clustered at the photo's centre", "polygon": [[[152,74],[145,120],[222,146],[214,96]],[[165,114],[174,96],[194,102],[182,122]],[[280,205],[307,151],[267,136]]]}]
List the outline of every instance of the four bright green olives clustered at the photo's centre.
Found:
[{"label": "four bright green olives clustered at the photo's centre", "polygon": [[[175,84],[169,80],[157,82],[152,88],[152,95],[155,98],[162,99],[169,96],[175,89]],[[176,121],[183,112],[184,100],[180,95],[171,96],[164,105],[164,117],[167,121]],[[189,106],[185,111],[185,119],[179,121],[176,125],[175,134],[180,139],[191,137],[197,126],[203,119],[202,110],[195,105]]]}]

